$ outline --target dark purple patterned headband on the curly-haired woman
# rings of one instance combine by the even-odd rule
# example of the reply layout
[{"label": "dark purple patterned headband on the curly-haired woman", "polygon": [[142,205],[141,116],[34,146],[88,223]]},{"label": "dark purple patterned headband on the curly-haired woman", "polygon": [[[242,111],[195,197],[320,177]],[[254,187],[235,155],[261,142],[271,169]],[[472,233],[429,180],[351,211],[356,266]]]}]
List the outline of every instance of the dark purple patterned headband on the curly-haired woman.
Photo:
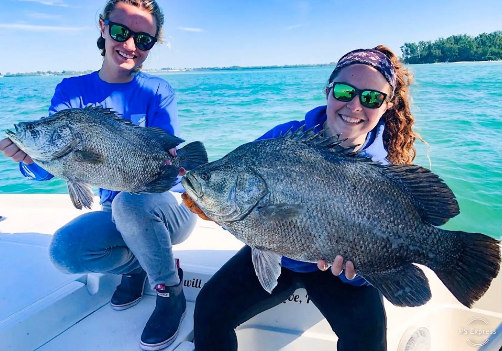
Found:
[{"label": "dark purple patterned headband on the curly-haired woman", "polygon": [[374,49],[357,49],[342,56],[336,64],[333,72],[337,72],[343,67],[357,63],[371,66],[382,73],[391,85],[392,95],[394,96],[398,74],[396,72],[396,68],[394,68],[394,65],[391,62],[391,59],[387,57],[387,55]]}]

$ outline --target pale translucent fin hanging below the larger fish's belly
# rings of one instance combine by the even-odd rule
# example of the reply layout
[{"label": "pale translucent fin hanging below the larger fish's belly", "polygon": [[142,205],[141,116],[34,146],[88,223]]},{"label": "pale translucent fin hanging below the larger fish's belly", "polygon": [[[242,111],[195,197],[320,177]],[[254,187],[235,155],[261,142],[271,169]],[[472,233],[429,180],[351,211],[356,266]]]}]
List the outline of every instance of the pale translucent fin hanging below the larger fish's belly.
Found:
[{"label": "pale translucent fin hanging below the larger fish's belly", "polygon": [[255,272],[263,288],[269,293],[277,286],[277,279],[281,275],[282,256],[272,251],[260,250],[256,247],[252,251]]}]

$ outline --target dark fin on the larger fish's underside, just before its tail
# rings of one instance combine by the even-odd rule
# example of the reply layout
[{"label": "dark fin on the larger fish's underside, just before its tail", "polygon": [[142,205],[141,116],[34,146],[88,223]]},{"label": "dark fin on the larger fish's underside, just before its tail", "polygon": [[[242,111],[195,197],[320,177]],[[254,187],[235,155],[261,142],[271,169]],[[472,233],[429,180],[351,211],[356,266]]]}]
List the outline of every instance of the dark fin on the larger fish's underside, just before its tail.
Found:
[{"label": "dark fin on the larger fish's underside, just before its tail", "polygon": [[431,299],[429,280],[424,272],[412,263],[359,275],[380,290],[393,305],[415,307]]}]

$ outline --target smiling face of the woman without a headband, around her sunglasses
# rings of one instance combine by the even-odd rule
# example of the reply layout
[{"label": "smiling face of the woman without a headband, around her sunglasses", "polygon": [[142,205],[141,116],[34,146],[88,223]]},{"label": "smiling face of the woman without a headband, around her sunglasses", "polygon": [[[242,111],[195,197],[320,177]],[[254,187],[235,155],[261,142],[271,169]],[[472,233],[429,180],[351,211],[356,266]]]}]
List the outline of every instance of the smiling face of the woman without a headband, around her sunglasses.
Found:
[{"label": "smiling face of the woman without a headband, around her sunglasses", "polygon": [[[115,9],[108,16],[108,20],[124,25],[134,32],[145,32],[153,37],[157,34],[155,17],[148,11],[126,3],[117,3]],[[111,63],[119,70],[132,71],[145,62],[149,51],[139,50],[133,37],[119,43],[110,37],[108,26],[105,26],[102,21],[99,22],[99,25],[101,36],[105,39],[105,60],[108,61],[108,64]]]}]

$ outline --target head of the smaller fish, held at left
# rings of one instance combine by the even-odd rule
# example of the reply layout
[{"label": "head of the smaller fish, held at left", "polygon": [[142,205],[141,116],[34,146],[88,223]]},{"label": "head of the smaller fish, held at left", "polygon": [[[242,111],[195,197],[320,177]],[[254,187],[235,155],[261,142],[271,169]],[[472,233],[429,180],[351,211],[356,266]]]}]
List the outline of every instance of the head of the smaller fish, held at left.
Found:
[{"label": "head of the smaller fish, held at left", "polygon": [[30,157],[44,158],[57,153],[74,140],[69,123],[51,117],[14,124],[7,137]]}]

